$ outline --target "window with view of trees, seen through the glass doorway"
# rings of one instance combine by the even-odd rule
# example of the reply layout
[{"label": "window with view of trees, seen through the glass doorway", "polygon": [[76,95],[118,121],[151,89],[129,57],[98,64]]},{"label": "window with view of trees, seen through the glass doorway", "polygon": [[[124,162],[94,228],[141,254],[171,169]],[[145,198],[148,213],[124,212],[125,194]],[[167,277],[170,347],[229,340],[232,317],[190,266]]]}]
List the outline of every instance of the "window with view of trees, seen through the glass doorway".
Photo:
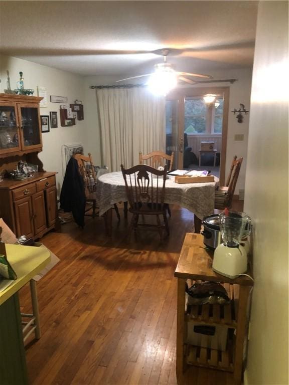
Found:
[{"label": "window with view of trees, seen through the glass doorway", "polygon": [[206,105],[203,98],[185,100],[186,134],[221,134],[223,125],[223,98],[216,98],[215,104]]}]

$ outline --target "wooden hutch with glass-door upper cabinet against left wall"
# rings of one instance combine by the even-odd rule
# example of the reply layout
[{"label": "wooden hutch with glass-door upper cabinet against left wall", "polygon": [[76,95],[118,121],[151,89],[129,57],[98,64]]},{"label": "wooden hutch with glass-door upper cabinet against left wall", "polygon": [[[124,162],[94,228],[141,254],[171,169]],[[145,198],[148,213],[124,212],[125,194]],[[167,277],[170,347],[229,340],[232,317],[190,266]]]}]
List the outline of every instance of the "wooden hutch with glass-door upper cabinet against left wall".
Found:
[{"label": "wooden hutch with glass-door upper cabinet against left wall", "polygon": [[[0,217],[20,237],[41,238],[57,222],[56,172],[46,172],[38,158],[42,151],[40,97],[0,94],[0,173],[19,161],[38,166],[22,180],[0,181]],[[7,172],[6,172],[7,171]]]}]

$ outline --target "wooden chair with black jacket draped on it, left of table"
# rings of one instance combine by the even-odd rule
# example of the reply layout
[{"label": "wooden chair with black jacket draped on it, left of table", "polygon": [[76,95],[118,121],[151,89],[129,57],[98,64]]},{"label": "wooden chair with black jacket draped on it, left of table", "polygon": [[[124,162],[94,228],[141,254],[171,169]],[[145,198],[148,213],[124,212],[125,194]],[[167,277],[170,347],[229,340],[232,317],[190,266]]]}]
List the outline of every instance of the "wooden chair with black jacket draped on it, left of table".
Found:
[{"label": "wooden chair with black jacket draped on it, left of table", "polygon": [[[74,158],[77,160],[79,172],[84,181],[85,188],[85,197],[86,202],[92,204],[92,214],[85,214],[88,217],[95,218],[98,216],[98,212],[96,212],[97,206],[97,197],[96,197],[96,172],[95,166],[92,161],[91,153],[88,153],[88,156],[82,154],[74,154]],[[91,210],[89,207],[85,212]],[[120,221],[120,215],[118,212],[117,205],[114,204],[114,210],[116,212],[116,216],[118,221]]]}]

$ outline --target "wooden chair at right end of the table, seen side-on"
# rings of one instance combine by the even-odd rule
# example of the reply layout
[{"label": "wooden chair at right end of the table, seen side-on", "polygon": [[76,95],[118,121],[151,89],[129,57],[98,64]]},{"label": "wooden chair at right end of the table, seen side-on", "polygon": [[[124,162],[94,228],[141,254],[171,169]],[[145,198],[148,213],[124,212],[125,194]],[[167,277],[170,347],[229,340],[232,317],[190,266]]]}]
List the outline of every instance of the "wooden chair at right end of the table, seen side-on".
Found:
[{"label": "wooden chair at right end of the table, seen side-on", "polygon": [[219,187],[215,191],[215,209],[224,210],[226,207],[228,209],[231,208],[242,161],[243,158],[237,159],[237,156],[234,156],[226,185]]}]

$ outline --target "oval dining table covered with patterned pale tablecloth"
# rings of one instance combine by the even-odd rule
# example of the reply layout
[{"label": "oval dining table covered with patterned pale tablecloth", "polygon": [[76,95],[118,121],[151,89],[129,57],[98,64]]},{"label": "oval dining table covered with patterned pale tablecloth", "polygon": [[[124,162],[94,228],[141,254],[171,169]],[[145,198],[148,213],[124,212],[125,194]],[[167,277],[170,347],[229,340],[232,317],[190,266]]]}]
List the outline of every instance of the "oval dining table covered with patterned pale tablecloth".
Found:
[{"label": "oval dining table covered with patterned pale tablecloth", "polygon": [[[214,182],[177,183],[175,176],[167,175],[165,203],[178,205],[195,214],[195,233],[200,233],[204,217],[214,214],[215,189],[219,178]],[[125,183],[121,171],[101,175],[96,182],[97,206],[99,216],[104,216],[106,232],[111,234],[112,208],[119,202],[127,202]]]}]

